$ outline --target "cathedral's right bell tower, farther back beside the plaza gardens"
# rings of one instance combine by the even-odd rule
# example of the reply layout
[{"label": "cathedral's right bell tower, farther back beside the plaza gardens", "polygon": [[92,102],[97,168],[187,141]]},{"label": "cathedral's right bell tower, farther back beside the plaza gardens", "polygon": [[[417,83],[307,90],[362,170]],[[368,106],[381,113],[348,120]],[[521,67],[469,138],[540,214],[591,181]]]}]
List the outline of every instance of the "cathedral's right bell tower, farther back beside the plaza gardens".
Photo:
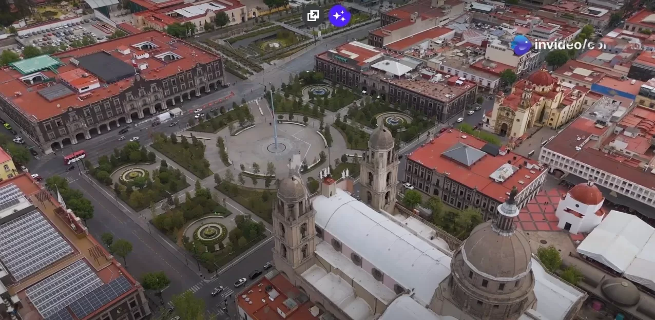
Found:
[{"label": "cathedral's right bell tower, farther back beside the plaza gardens", "polygon": [[361,162],[360,197],[373,209],[392,212],[398,192],[398,150],[386,127],[373,130]]}]

